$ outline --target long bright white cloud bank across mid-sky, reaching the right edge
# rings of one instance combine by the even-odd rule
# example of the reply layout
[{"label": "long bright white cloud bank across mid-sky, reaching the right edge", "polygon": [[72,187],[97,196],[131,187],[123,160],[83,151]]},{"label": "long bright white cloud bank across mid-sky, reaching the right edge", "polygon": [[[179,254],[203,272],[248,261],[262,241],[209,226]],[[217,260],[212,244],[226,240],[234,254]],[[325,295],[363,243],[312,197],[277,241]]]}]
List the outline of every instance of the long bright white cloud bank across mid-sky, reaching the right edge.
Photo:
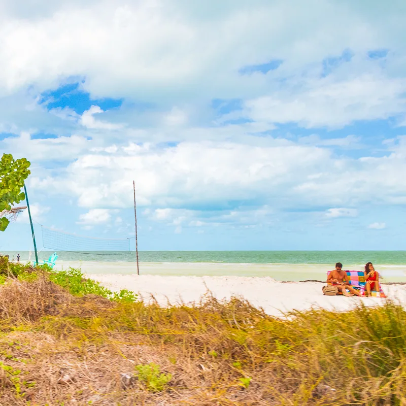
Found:
[{"label": "long bright white cloud bank across mid-sky, reaching the right edge", "polygon": [[[267,204],[279,210],[332,206],[327,218],[356,216],[355,208],[403,204],[406,188],[404,139],[387,156],[332,157],[328,149],[287,143],[256,147],[236,143],[152,144],[89,153],[58,177],[31,182],[39,188],[68,193],[87,208],[131,207],[132,180],[138,204],[166,208],[157,220],[182,217],[177,208],[235,207]],[[63,188],[60,187],[63,185]],[[185,212],[186,213],[186,212]]]}]

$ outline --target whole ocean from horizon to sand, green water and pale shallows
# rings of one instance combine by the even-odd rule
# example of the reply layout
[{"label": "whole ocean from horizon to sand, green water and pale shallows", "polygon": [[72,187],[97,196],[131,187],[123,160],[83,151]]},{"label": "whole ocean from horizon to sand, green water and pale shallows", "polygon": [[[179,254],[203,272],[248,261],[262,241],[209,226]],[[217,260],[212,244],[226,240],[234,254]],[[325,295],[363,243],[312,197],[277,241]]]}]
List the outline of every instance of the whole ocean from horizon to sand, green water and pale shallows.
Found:
[{"label": "whole ocean from horizon to sand, green water and pale shallows", "polygon": [[[39,252],[39,261],[52,254]],[[3,252],[15,259],[18,252]],[[21,251],[21,261],[35,260]],[[58,252],[56,269],[81,268],[87,275],[134,274],[136,254],[128,251]],[[373,262],[384,282],[406,283],[406,251],[140,251],[141,275],[269,276],[279,281],[325,280],[327,270],[363,270]]]}]

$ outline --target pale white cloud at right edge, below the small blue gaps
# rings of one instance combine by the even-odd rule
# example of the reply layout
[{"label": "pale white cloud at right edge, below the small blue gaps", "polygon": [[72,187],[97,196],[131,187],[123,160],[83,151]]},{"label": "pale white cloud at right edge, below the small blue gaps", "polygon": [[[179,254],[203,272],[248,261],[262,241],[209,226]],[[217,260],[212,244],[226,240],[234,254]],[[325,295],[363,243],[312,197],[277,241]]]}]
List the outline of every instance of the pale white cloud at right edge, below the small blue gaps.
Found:
[{"label": "pale white cloud at right edge, below the small blue gaps", "polygon": [[255,121],[300,126],[344,127],[354,120],[387,119],[406,109],[406,79],[363,75],[294,83],[272,96],[246,102],[245,115]]}]

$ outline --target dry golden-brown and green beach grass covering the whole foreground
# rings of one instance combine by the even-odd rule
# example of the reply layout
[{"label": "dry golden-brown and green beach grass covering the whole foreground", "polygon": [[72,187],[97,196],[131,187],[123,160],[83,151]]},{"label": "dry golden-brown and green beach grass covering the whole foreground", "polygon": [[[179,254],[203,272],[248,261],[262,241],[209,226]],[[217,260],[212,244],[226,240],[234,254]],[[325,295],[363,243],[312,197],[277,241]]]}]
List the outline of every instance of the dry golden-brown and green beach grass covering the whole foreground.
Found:
[{"label": "dry golden-brown and green beach grass covering the whole foreground", "polygon": [[276,318],[210,292],[163,308],[78,270],[0,275],[0,404],[406,404],[406,312],[390,301]]}]

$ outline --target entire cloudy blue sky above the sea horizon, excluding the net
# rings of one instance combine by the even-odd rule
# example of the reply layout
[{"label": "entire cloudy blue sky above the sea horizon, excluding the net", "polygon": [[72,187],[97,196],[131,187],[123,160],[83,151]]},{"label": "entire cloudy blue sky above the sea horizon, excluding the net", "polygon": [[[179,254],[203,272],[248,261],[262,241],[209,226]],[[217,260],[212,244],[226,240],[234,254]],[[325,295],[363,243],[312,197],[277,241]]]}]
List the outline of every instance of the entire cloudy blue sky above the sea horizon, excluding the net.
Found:
[{"label": "entire cloudy blue sky above the sea horizon, excluding the net", "polygon": [[[0,153],[140,250],[404,250],[403,0],[0,0]],[[0,251],[32,247],[27,213]]]}]

